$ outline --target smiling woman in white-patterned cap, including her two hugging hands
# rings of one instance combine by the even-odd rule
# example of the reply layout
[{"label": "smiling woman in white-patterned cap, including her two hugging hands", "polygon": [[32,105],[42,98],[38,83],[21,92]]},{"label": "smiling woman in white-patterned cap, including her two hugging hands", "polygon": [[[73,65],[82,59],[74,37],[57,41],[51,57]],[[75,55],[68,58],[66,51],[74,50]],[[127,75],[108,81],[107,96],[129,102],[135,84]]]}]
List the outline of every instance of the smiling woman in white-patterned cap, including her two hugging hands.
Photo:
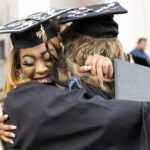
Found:
[{"label": "smiling woman in white-patterned cap, including her two hugging hands", "polygon": [[[50,72],[58,58],[61,44],[50,18],[65,11],[68,9],[39,12],[0,27],[0,33],[11,33],[10,39],[13,44],[13,49],[7,60],[6,81],[3,89],[5,94],[29,81],[54,84]],[[101,71],[103,67],[105,70],[112,68],[112,62],[109,58],[101,55],[88,57],[86,61],[93,64],[94,71],[97,70],[95,65],[97,62],[102,63]],[[89,71],[85,69],[87,67],[90,67],[93,72],[91,66],[81,66],[80,72]],[[57,68],[55,67],[55,69]],[[98,70],[100,71],[100,68]],[[14,138],[15,134],[10,131],[17,127],[4,124],[7,118],[8,115],[0,116],[0,139],[12,144],[13,140],[9,137]]]}]

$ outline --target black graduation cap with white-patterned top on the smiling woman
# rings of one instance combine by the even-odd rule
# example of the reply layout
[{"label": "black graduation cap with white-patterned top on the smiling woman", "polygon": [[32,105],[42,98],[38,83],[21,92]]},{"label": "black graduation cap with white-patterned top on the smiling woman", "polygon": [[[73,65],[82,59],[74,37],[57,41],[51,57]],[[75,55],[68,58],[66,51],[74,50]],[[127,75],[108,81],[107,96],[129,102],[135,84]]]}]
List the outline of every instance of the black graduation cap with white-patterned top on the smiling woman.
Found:
[{"label": "black graduation cap with white-patterned top on the smiling woman", "polygon": [[50,19],[68,10],[70,9],[39,12],[29,15],[21,20],[1,26],[0,34],[11,33],[10,37],[14,48],[34,47],[43,43],[43,34],[46,35],[46,40],[57,36]]}]

